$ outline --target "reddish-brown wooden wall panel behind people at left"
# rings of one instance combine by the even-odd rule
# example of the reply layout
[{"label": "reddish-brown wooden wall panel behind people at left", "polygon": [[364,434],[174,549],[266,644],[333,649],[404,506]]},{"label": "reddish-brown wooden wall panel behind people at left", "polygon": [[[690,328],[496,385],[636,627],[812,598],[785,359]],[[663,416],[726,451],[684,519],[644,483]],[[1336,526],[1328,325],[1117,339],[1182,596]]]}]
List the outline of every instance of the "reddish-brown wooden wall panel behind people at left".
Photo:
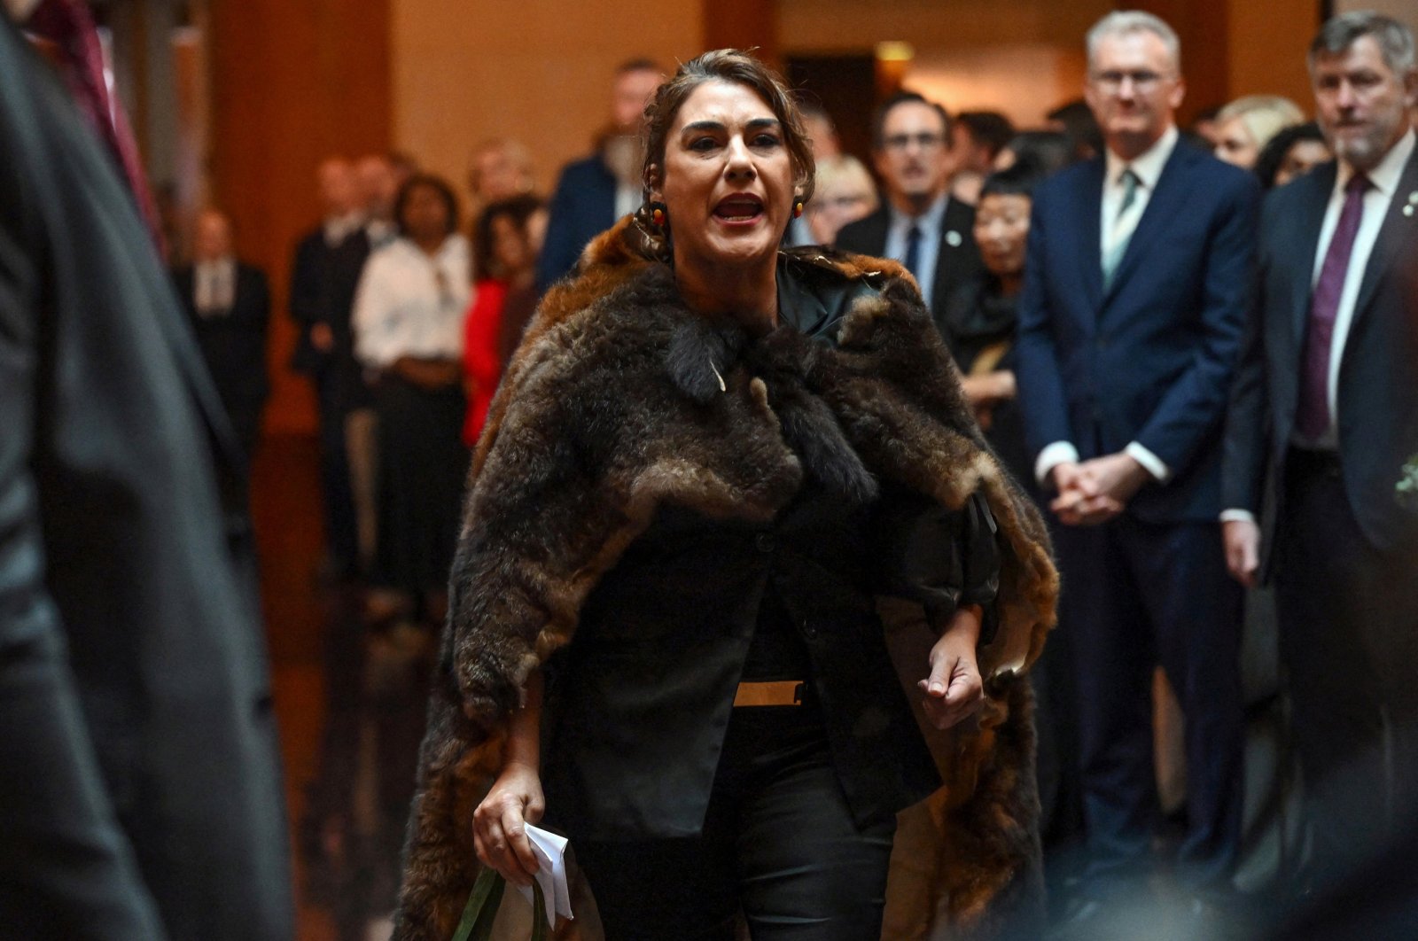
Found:
[{"label": "reddish-brown wooden wall panel behind people at left", "polygon": [[286,368],[295,240],[320,217],[315,169],[391,145],[389,0],[211,0],[213,201],[275,295],[268,432],[313,432],[308,383]]}]

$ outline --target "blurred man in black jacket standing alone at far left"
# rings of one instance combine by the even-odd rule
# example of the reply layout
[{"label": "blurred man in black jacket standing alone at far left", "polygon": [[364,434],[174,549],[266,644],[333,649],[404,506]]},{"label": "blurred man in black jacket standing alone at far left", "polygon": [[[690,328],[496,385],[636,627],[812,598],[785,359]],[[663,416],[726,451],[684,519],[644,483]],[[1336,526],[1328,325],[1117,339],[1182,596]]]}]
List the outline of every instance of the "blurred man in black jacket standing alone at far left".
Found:
[{"label": "blurred man in black jacket standing alone at far left", "polygon": [[231,221],[207,210],[197,217],[193,264],[174,271],[173,282],[250,463],[261,434],[261,410],[271,394],[265,360],[271,289],[265,274],[237,261]]}]

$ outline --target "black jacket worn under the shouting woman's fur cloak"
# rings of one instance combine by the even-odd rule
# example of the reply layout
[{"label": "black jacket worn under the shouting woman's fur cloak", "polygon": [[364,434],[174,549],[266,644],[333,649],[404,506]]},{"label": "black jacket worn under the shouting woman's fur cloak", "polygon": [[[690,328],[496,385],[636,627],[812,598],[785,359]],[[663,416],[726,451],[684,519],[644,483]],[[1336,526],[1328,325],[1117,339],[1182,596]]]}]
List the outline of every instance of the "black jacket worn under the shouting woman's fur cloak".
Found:
[{"label": "black jacket worn under the shouting woman's fur cloak", "polygon": [[[798,300],[780,303],[784,330],[831,346],[845,305],[871,289],[839,292],[827,310],[791,268],[778,272],[780,296]],[[757,359],[752,347],[742,356]],[[770,381],[770,398],[776,391]],[[794,448],[808,475],[771,520],[662,506],[586,599],[576,639],[552,665],[562,682],[549,689],[543,761],[547,819],[573,839],[699,832],[750,642],[777,616],[805,645],[808,675],[788,679],[811,682],[858,823],[940,787],[875,598],[922,602],[936,625],[959,604],[993,609],[995,524],[980,499],[953,513],[902,488],[854,499],[815,476],[834,444]]]}]

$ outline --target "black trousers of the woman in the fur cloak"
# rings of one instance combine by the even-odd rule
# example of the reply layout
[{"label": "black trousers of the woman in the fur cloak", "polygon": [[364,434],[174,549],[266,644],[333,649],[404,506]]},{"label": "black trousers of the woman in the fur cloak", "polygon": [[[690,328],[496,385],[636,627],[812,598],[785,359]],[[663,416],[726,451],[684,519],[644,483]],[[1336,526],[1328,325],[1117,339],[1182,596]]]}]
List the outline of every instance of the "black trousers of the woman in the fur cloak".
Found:
[{"label": "black trousers of the woman in the fur cloak", "polygon": [[733,710],[703,833],[583,842],[607,941],[881,937],[895,816],[852,822],[811,704]]}]

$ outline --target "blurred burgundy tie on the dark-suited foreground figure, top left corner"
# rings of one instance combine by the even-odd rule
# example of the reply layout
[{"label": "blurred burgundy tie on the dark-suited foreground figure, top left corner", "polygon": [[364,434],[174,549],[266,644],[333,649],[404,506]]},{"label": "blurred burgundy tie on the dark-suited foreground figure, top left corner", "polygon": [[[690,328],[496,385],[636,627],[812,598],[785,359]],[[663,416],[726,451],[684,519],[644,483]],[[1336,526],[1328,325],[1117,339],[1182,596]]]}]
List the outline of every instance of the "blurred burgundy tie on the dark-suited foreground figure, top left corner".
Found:
[{"label": "blurred burgundy tie on the dark-suited foreground figure, top left corner", "polygon": [[69,86],[79,111],[118,160],[118,169],[128,180],[138,208],[153,234],[153,242],[162,252],[163,235],[157,205],[147,188],[143,164],[138,157],[138,143],[133,140],[123,109],[108,92],[104,47],[88,6],[84,0],[43,0],[24,28],[58,48],[64,82]]}]

